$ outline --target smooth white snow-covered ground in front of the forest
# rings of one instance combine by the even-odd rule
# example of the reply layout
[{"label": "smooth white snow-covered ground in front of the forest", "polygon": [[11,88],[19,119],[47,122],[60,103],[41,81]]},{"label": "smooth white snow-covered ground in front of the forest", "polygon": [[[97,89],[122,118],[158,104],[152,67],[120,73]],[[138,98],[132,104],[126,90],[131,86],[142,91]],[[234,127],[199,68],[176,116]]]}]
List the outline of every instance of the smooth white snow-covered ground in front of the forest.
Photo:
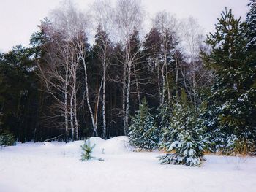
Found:
[{"label": "smooth white snow-covered ground in front of the forest", "polygon": [[206,155],[201,167],[160,165],[159,152],[132,152],[127,137],[103,140],[80,161],[83,141],[0,148],[0,192],[255,191],[256,158]]}]

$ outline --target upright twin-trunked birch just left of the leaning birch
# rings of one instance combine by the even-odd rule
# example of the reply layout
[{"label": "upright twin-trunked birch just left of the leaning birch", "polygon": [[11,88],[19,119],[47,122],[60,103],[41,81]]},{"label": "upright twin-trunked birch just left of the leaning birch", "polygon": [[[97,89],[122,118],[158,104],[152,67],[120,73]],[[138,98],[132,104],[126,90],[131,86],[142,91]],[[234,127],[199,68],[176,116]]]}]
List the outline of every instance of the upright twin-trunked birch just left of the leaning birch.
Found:
[{"label": "upright twin-trunked birch just left of the leaning birch", "polygon": [[64,41],[67,42],[66,50],[68,50],[68,66],[71,80],[69,82],[70,88],[70,126],[72,130],[72,140],[78,139],[78,118],[77,118],[77,70],[80,63],[80,53],[78,50],[78,43],[80,34],[85,33],[86,19],[82,12],[72,4],[72,1],[63,1],[61,7],[54,9],[51,13],[53,26],[56,31],[61,31]]}]

